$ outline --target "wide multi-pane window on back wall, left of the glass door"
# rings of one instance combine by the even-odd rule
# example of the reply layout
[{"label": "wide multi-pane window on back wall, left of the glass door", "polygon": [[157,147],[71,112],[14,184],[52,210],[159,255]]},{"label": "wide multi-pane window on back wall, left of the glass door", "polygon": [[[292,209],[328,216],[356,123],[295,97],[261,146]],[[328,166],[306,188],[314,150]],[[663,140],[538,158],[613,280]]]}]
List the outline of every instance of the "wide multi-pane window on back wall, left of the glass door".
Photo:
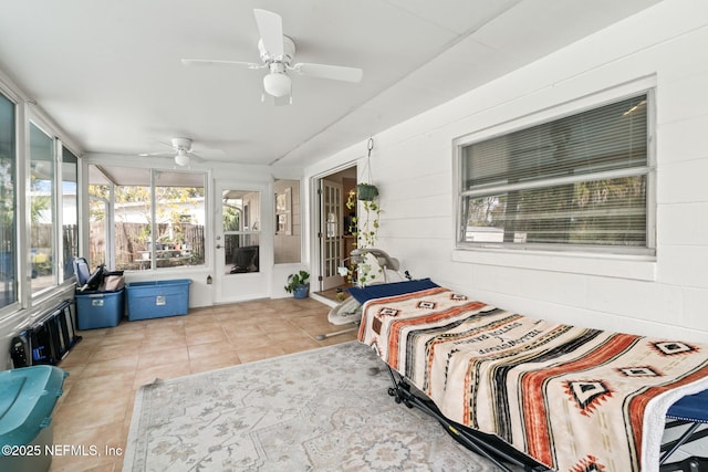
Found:
[{"label": "wide multi-pane window on back wall, left of the glass door", "polygon": [[90,166],[88,180],[92,265],[204,265],[204,174]]}]

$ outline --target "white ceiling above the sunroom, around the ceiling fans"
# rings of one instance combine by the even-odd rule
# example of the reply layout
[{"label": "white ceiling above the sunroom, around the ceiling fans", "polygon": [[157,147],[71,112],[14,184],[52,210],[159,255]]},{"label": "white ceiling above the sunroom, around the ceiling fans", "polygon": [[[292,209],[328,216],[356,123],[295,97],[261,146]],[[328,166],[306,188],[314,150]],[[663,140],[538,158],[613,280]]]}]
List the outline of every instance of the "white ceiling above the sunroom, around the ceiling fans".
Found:
[{"label": "white ceiling above the sunroom, around the ceiling fans", "polygon": [[[0,0],[0,70],[81,147],[124,155],[194,139],[212,160],[306,165],[659,0]],[[282,15],[293,62],[364,70],[293,77],[261,102],[253,9]],[[221,153],[209,153],[220,149]]]}]

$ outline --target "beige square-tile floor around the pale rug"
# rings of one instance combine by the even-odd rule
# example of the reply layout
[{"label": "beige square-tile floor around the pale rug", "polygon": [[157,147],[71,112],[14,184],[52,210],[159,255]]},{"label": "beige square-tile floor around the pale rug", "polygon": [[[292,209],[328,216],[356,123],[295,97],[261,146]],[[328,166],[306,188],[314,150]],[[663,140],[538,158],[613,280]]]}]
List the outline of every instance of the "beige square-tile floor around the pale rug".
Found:
[{"label": "beige square-tile floor around the pale rug", "polygon": [[253,301],[81,332],[59,365],[70,376],[54,409],[53,444],[66,454],[54,455],[50,471],[121,471],[123,454],[106,448],[125,449],[137,389],[156,378],[355,339],[356,332],[315,339],[346,327],[330,324],[329,311],[312,298]]}]

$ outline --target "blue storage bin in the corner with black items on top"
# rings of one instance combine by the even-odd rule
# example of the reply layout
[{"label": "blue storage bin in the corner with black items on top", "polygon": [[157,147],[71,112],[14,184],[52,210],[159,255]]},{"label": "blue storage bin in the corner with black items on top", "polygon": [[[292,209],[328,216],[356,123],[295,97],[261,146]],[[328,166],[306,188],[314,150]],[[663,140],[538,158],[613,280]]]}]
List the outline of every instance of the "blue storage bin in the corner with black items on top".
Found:
[{"label": "blue storage bin in the corner with black items on top", "polygon": [[117,326],[125,313],[125,289],[115,292],[76,293],[74,297],[79,329]]}]

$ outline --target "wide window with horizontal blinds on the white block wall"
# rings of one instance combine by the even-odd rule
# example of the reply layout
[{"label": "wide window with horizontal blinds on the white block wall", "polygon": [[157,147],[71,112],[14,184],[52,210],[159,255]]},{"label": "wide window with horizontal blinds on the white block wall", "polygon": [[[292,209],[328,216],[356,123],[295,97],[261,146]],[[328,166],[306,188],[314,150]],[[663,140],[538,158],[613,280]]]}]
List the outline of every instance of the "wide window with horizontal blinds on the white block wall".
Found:
[{"label": "wide window with horizontal blinds on the white block wall", "polygon": [[653,253],[648,99],[462,145],[459,245]]}]

